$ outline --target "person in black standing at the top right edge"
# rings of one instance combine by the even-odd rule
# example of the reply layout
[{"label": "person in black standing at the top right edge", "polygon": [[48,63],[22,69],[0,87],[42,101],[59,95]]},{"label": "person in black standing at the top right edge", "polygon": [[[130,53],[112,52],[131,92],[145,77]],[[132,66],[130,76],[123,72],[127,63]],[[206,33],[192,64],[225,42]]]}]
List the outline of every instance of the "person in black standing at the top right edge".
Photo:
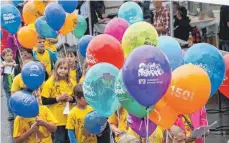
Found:
[{"label": "person in black standing at the top right edge", "polygon": [[220,31],[219,31],[221,50],[229,52],[229,6],[222,6],[220,9]]}]

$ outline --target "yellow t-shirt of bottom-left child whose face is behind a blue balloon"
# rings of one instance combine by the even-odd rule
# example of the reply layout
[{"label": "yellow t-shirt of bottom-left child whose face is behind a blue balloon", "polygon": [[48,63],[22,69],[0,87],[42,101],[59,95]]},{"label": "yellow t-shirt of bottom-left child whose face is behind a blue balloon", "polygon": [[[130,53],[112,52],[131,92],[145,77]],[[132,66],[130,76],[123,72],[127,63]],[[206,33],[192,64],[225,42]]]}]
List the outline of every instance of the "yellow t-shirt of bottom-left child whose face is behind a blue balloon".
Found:
[{"label": "yellow t-shirt of bottom-left child whose face is behind a blue balloon", "polygon": [[[57,123],[57,120],[53,117],[52,113],[46,106],[39,107],[39,117],[49,123]],[[14,120],[14,132],[13,137],[17,138],[21,134],[25,133],[36,122],[35,118],[23,118],[17,116]],[[39,132],[33,133],[25,143],[52,143],[51,133],[43,126],[39,126]]]}]

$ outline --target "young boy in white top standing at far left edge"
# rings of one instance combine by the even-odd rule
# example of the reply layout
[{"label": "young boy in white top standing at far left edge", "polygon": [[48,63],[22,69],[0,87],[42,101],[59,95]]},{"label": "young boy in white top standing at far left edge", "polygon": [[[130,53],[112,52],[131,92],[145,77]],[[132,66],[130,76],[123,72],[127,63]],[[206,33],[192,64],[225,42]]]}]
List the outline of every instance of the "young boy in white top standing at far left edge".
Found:
[{"label": "young boy in white top standing at far left edge", "polygon": [[9,99],[10,99],[10,89],[12,86],[16,63],[13,60],[13,51],[10,48],[6,48],[2,51],[2,57],[4,59],[4,61],[1,63],[2,75],[3,75],[3,89],[5,91],[5,95],[7,98],[7,106],[9,112],[8,120],[12,121],[14,119],[14,116],[11,108],[9,107]]}]

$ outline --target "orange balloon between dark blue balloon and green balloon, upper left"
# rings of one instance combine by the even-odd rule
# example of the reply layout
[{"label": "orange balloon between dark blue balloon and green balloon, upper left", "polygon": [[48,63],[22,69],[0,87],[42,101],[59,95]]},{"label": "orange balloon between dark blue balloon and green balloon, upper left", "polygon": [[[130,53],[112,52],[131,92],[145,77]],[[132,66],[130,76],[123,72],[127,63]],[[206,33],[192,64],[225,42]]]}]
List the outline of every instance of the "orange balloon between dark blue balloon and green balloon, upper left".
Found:
[{"label": "orange balloon between dark blue balloon and green balloon, upper left", "polygon": [[77,15],[75,13],[67,14],[64,25],[60,29],[60,34],[67,35],[72,32],[77,24]]}]

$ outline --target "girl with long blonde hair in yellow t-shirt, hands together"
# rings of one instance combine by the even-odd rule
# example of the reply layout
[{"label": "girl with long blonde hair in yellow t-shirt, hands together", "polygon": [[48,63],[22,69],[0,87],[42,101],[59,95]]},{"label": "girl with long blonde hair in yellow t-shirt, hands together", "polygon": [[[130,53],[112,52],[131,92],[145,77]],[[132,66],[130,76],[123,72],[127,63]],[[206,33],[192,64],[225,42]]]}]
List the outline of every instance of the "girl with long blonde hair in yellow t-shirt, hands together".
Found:
[{"label": "girl with long blonde hair in yellow t-shirt, hands together", "polygon": [[70,79],[70,67],[67,60],[59,59],[55,65],[53,76],[43,85],[42,103],[47,105],[53,116],[57,119],[57,131],[54,133],[54,142],[64,142],[67,138],[67,116],[64,114],[65,106],[71,109],[74,84]]}]

